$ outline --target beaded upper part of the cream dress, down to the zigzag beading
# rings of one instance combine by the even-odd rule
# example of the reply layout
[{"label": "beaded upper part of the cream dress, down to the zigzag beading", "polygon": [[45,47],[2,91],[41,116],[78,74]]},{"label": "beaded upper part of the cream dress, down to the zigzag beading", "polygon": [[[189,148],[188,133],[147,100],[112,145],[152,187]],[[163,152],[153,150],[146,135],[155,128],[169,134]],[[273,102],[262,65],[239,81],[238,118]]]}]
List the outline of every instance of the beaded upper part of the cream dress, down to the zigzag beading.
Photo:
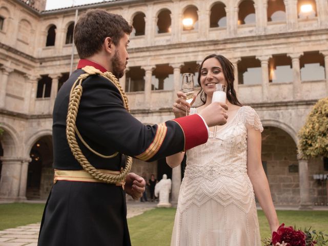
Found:
[{"label": "beaded upper part of the cream dress, down to the zigzag beading", "polygon": [[[191,109],[191,114],[196,109]],[[223,128],[217,130],[216,139],[210,132],[206,144],[187,151],[187,167],[181,183],[179,210],[191,204],[201,206],[214,199],[224,207],[234,203],[244,212],[254,199],[252,183],[247,174],[247,129],[263,131],[254,109],[238,109]]]}]

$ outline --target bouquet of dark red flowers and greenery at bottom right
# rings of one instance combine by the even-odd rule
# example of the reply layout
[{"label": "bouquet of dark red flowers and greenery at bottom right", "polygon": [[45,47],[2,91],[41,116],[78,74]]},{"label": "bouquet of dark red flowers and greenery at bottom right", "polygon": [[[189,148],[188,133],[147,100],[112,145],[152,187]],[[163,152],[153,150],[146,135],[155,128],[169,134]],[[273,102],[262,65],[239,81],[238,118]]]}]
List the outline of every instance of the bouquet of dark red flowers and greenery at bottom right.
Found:
[{"label": "bouquet of dark red flowers and greenery at bottom right", "polygon": [[314,246],[326,245],[328,240],[324,240],[322,232],[317,233],[315,230],[296,230],[295,227],[285,227],[281,224],[277,232],[272,233],[272,239],[264,239],[265,246]]}]

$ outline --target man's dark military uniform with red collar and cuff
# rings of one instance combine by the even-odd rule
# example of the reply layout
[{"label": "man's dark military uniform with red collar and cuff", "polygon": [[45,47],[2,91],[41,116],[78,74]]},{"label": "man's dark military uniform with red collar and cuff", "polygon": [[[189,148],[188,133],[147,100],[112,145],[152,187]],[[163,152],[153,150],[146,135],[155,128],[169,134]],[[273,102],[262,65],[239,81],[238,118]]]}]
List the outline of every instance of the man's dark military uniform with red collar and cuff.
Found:
[{"label": "man's dark military uniform with red collar and cuff", "polygon": [[[102,66],[81,59],[58,91],[53,110],[53,167],[57,171],[83,168],[74,158],[66,137],[66,119],[71,88],[81,68]],[[154,161],[204,144],[208,129],[199,115],[181,117],[145,126],[125,108],[117,87],[97,74],[83,81],[83,94],[76,128],[87,144],[103,155],[119,152],[113,158],[92,153],[78,139],[78,145],[92,165],[119,172],[125,155]],[[49,194],[40,228],[39,246],[121,246],[131,245],[122,186],[95,180],[57,178]]]}]

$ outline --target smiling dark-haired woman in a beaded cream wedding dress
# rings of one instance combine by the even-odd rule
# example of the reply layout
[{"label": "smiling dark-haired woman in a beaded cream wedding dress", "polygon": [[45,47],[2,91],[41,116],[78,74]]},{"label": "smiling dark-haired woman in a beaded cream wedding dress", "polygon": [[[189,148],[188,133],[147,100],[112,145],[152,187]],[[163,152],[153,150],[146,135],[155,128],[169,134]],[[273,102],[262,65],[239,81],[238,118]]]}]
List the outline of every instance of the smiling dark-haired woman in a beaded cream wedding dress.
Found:
[{"label": "smiling dark-haired woman in a beaded cream wedding dress", "polygon": [[[260,246],[254,193],[271,232],[279,227],[261,163],[261,121],[254,109],[239,103],[233,87],[234,67],[226,57],[205,57],[198,72],[204,104],[191,108],[190,114],[211,103],[215,84],[220,83],[227,88],[228,121],[217,127],[215,139],[210,128],[208,142],[187,151],[171,246]],[[180,117],[190,105],[182,92],[177,95],[173,111]],[[168,165],[177,167],[183,156],[167,157]]]}]

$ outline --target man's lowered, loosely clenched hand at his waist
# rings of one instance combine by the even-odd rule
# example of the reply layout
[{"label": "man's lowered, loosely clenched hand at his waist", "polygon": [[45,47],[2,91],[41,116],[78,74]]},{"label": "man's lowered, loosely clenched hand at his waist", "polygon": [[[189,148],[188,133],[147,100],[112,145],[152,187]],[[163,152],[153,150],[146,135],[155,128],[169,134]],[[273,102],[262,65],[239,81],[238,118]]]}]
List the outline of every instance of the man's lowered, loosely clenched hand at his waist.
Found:
[{"label": "man's lowered, loosely clenched hand at his waist", "polygon": [[129,173],[125,180],[125,192],[137,200],[145,192],[146,181],[135,173]]}]

